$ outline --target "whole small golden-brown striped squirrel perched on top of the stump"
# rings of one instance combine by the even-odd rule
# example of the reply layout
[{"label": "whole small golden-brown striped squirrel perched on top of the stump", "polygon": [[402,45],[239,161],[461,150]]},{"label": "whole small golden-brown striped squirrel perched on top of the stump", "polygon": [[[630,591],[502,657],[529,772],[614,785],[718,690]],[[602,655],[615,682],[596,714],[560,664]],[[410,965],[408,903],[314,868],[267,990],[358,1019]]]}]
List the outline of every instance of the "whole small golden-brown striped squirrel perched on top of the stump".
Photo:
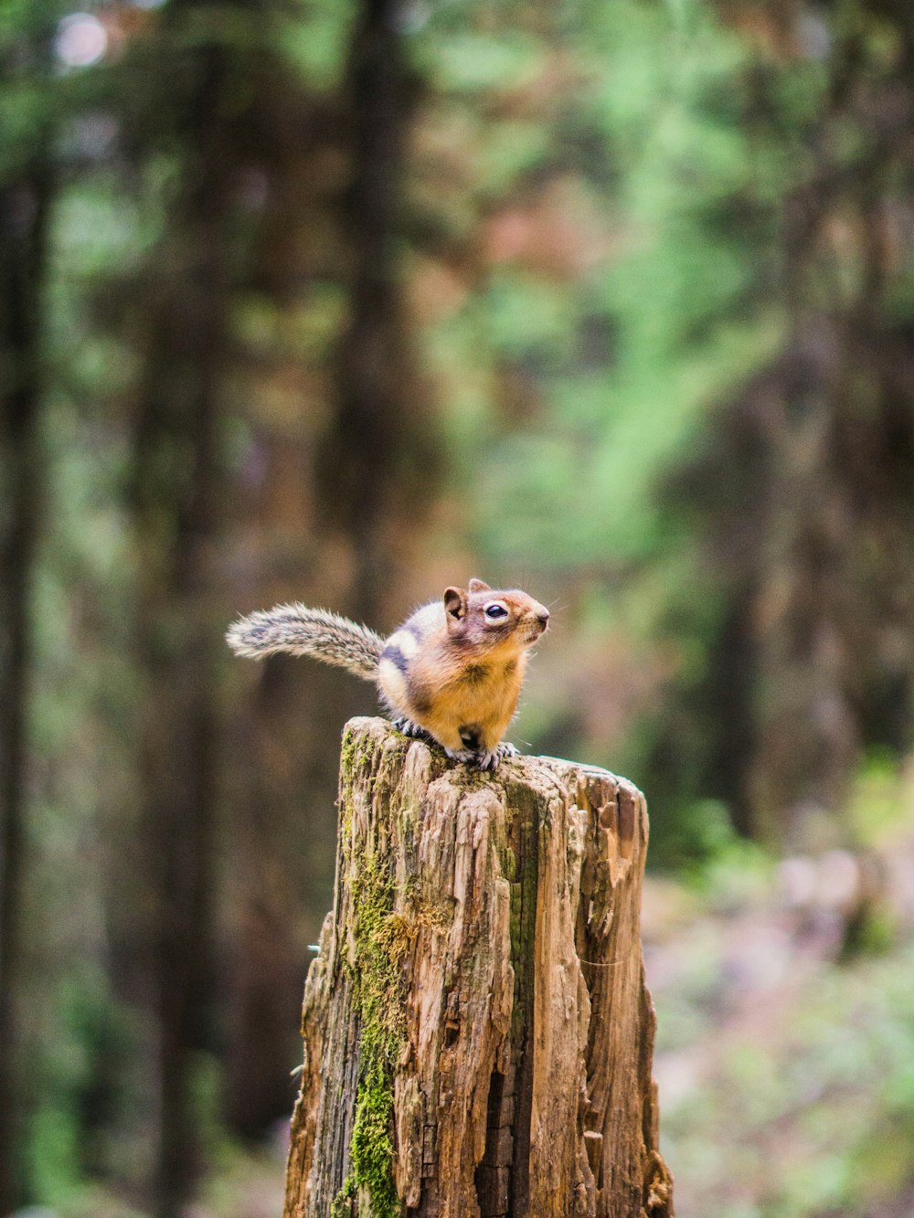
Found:
[{"label": "whole small golden-brown striped squirrel perched on top of the stump", "polygon": [[386,639],[301,604],[241,618],[225,639],[236,655],[313,655],[374,681],[399,731],[491,771],[518,752],[502,736],[517,709],[528,649],[548,620],[548,609],[525,592],[470,580],[417,609]]}]

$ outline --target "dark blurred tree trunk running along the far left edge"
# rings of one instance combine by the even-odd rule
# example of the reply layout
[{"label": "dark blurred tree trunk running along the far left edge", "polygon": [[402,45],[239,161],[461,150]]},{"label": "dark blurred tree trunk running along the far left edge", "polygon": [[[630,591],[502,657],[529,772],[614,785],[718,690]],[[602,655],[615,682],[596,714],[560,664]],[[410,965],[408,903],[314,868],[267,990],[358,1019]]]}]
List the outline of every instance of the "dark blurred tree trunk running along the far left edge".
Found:
[{"label": "dark blurred tree trunk running along the far left edge", "polygon": [[[12,39],[6,82],[46,71],[48,28]],[[15,88],[15,85],[13,85]],[[0,1213],[29,1200],[26,1166],[22,956],[26,904],[27,710],[32,666],[30,583],[43,491],[41,306],[54,190],[51,127],[39,116],[34,147],[0,178]],[[10,161],[4,150],[4,161]]]}]

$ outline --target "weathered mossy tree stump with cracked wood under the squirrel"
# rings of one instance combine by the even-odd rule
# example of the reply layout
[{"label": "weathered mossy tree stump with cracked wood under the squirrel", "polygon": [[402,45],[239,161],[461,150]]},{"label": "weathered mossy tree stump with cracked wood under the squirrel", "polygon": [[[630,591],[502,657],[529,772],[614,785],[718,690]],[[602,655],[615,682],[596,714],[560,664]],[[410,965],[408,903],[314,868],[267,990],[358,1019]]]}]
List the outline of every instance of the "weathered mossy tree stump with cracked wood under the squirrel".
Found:
[{"label": "weathered mossy tree stump with cracked wood under the squirrel", "polygon": [[667,1218],[639,934],[643,797],[342,741],[284,1218]]}]

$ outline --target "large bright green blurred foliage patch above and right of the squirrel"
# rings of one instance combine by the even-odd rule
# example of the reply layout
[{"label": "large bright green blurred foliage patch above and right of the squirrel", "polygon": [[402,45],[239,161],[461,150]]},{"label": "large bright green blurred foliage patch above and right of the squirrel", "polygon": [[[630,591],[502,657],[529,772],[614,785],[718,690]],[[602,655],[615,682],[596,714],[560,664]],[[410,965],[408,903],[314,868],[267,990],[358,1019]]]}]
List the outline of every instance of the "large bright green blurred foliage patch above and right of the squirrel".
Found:
[{"label": "large bright green blurred foliage patch above and right of the squirrel", "polygon": [[[585,38],[575,44],[584,69],[573,129],[601,153],[580,169],[580,201],[612,217],[613,258],[561,280],[497,267],[464,309],[473,339],[453,319],[446,340],[433,336],[459,393],[455,414],[468,410],[464,346],[476,363],[485,354],[494,376],[519,369],[533,387],[524,425],[490,424],[474,459],[485,488],[474,536],[497,566],[529,549],[530,536],[557,572],[652,558],[669,527],[656,514],[659,479],[780,339],[776,318],[749,311],[773,225],[758,196],[773,191],[764,152],[740,127],[745,46],[702,5],[680,17],[640,2],[603,6],[589,13]],[[472,106],[459,79],[446,84]],[[539,149],[514,138],[517,105],[483,129],[491,141],[503,127],[506,143],[539,152],[513,175],[502,158],[483,183],[492,201],[523,191],[525,174],[567,172],[567,112],[534,105]],[[740,209],[739,227],[728,208]],[[603,352],[591,368],[595,334]]]}]

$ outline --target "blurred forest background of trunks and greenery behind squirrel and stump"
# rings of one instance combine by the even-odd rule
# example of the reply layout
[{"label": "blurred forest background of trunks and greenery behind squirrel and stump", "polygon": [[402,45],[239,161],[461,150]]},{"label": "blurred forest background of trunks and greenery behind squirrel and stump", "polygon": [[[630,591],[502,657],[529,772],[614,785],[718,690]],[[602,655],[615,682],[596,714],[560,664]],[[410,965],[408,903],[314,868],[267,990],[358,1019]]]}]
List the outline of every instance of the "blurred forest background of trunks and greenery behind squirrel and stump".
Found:
[{"label": "blurred forest background of trunks and greenery behind squirrel and stump", "polygon": [[553,610],[692,1218],[914,1214],[909,0],[5,0],[0,1213],[278,1214],[296,598]]}]

